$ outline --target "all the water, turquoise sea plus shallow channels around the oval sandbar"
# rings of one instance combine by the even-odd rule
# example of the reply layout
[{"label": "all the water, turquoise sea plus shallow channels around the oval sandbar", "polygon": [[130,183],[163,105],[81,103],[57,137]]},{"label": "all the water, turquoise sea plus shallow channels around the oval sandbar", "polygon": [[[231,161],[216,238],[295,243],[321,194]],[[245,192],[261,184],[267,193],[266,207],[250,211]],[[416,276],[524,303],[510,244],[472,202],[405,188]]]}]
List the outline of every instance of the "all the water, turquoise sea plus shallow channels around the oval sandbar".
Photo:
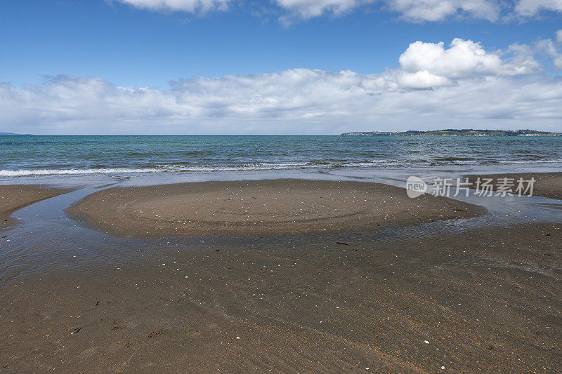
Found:
[{"label": "all the water, turquoise sea plus shallow channels around the oval sandbar", "polygon": [[360,180],[405,187],[412,175],[431,187],[435,178],[497,171],[562,171],[562,138],[0,136],[0,185],[70,188],[67,194],[13,213],[18,225],[0,241],[0,283],[48,272],[103,276],[100,269],[107,269],[107,264],[120,269],[135,256],[150,255],[161,263],[171,263],[175,260],[169,256],[177,251],[204,252],[213,246],[291,248],[331,246],[337,241],[394,242],[490,225],[560,222],[562,203],[554,199],[476,194],[459,194],[455,199],[483,206],[488,215],[363,234],[278,238],[115,238],[79,225],[65,213],[84,196],[109,187],[275,178]]}]

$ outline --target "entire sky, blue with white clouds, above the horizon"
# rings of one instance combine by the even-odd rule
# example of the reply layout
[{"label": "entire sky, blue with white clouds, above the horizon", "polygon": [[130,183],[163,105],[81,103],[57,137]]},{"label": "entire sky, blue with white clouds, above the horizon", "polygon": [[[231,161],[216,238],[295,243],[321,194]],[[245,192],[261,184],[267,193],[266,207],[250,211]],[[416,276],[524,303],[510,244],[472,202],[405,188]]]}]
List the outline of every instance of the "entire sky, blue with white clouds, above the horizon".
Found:
[{"label": "entire sky, blue with white clouds, above the horizon", "polygon": [[[440,1],[450,11],[440,11],[435,0],[421,1],[421,10],[410,0],[203,0],[209,8],[195,11],[190,9],[192,1],[0,2],[0,82],[5,82],[0,110],[6,114],[0,131],[336,133],[385,130],[399,123],[403,123],[400,128],[461,124],[521,128],[524,123],[525,128],[561,130],[562,112],[551,107],[562,107],[558,101],[562,67],[556,65],[556,58],[562,56],[562,41],[556,34],[562,29],[562,1],[535,0],[531,6],[521,4],[526,0],[503,5],[494,0]],[[544,6],[537,7],[541,1]],[[494,11],[478,11],[483,4],[491,4]],[[423,14],[424,19],[412,14]],[[450,48],[455,38],[473,41],[466,46],[476,56],[485,53],[500,60],[475,60],[466,70],[464,54],[438,56],[452,61],[445,66],[439,60],[421,61],[423,48],[410,51],[410,62],[399,60],[416,41],[430,47],[443,41],[440,52]],[[518,50],[514,60],[513,46],[528,49]],[[524,58],[534,62],[523,63]],[[458,63],[458,69],[441,74],[450,63]],[[299,69],[299,83],[286,86],[286,72],[292,69]],[[309,70],[320,73],[311,76]],[[340,74],[334,87],[330,74],[341,71],[357,75],[351,82]],[[280,75],[262,75],[266,73]],[[372,82],[381,74],[384,87],[373,88]],[[235,83],[224,78],[229,75],[237,77]],[[215,81],[197,80],[211,78]],[[404,79],[407,84],[400,83]],[[515,116],[509,114],[505,98],[495,110],[483,102],[488,113],[468,116],[466,121],[469,108],[440,110],[433,103],[423,108],[414,105],[418,109],[412,112],[412,102],[419,100],[412,96],[431,102],[440,92],[452,95],[445,100],[457,105],[459,100],[476,100],[460,92],[467,87],[490,92],[490,79],[501,81],[495,86],[498,92],[509,94],[509,88],[523,81],[529,89],[547,85],[552,95],[521,98],[522,93],[517,93],[511,105],[532,108]],[[365,81],[371,82],[369,88]],[[294,102],[294,97],[306,98],[313,87],[324,84],[327,94],[333,94],[327,102]],[[356,98],[341,84],[366,90],[358,98],[369,95],[380,100],[366,101],[364,108],[355,106]],[[277,86],[272,89],[272,85]],[[452,92],[455,87],[459,92]],[[150,93],[139,91],[146,88],[151,88]],[[211,88],[216,93],[209,95]],[[223,95],[226,91],[230,94]],[[92,95],[96,100],[91,100]],[[252,99],[256,96],[259,100]],[[348,107],[341,104],[345,100],[350,100]],[[111,105],[115,102],[126,108],[115,110]],[[380,107],[373,111],[373,105]],[[411,120],[400,116],[404,108],[421,118],[418,123],[411,125]],[[481,109],[476,105],[472,110]],[[100,111],[105,114],[96,114]],[[362,122],[362,118],[369,120]]]}]

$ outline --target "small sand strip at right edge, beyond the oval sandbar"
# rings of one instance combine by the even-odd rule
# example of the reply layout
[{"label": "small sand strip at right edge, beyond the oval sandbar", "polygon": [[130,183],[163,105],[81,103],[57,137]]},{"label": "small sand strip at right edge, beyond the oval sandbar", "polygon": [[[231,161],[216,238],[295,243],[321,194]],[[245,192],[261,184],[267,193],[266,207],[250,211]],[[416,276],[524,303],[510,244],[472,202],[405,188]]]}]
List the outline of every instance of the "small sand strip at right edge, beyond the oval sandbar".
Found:
[{"label": "small sand strip at right edge, beyond the oval sandbar", "polygon": [[[562,173],[505,173],[505,174],[478,174],[465,175],[469,178],[469,182],[475,183],[477,178],[492,178],[492,184],[497,187],[499,178],[514,178],[515,185],[517,180],[530,180],[535,178],[533,185],[533,196],[550,197],[552,199],[562,199]],[[527,184],[525,183],[525,186]],[[495,188],[494,188],[495,190]]]}]

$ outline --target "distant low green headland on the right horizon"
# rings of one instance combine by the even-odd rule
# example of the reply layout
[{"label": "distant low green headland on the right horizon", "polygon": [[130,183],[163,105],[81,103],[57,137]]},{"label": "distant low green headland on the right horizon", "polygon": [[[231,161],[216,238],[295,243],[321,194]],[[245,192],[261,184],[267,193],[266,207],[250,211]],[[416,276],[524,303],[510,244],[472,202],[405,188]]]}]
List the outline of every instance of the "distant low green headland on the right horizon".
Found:
[{"label": "distant low green headland on the right horizon", "polygon": [[535,130],[435,130],[435,131],[355,131],[344,136],[562,136],[562,133]]}]

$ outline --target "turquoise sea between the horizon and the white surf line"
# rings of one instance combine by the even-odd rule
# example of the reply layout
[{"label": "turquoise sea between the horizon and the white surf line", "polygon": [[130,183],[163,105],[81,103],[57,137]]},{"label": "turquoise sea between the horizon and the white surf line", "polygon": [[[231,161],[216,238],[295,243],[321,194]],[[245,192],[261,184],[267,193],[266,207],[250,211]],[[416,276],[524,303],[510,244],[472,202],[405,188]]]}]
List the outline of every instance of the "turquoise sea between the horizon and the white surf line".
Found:
[{"label": "turquoise sea between the horizon and the white surf line", "polygon": [[0,177],[331,168],[562,167],[562,137],[0,136]]}]

